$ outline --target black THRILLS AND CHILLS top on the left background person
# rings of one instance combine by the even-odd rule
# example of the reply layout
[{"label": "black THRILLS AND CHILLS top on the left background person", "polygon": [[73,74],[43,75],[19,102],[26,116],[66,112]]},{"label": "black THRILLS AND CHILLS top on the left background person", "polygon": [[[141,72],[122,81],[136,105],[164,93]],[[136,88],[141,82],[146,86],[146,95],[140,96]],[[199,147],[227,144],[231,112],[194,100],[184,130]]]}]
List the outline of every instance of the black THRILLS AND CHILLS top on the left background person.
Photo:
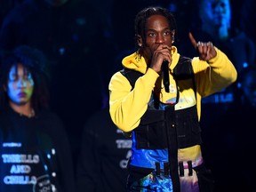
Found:
[{"label": "black THRILLS AND CHILLS top on the left background person", "polygon": [[73,164],[62,128],[48,112],[28,118],[9,108],[0,114],[0,191],[73,191]]}]

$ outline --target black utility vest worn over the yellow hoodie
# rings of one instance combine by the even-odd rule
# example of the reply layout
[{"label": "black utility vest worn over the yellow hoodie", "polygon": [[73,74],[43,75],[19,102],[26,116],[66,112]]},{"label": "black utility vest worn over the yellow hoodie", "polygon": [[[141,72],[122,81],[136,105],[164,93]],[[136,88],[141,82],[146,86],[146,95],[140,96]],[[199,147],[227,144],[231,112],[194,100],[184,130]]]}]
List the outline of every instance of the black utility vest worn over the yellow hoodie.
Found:
[{"label": "black utility vest worn over the yellow hoodie", "polygon": [[[129,80],[132,89],[136,80],[142,76],[138,71],[124,68],[121,73]],[[173,77],[179,86],[180,80],[189,80],[196,85],[194,80],[191,60],[180,56],[180,60],[173,69]],[[179,97],[179,89],[177,89]],[[154,98],[155,102],[159,102]],[[188,148],[202,143],[201,128],[198,122],[196,105],[191,108],[174,110],[174,105],[168,105],[165,110],[148,107],[140,119],[140,125],[134,129],[136,148],[160,149],[160,148]],[[173,132],[174,131],[174,132]],[[172,145],[168,140],[172,140]],[[173,140],[177,144],[173,145]]]}]

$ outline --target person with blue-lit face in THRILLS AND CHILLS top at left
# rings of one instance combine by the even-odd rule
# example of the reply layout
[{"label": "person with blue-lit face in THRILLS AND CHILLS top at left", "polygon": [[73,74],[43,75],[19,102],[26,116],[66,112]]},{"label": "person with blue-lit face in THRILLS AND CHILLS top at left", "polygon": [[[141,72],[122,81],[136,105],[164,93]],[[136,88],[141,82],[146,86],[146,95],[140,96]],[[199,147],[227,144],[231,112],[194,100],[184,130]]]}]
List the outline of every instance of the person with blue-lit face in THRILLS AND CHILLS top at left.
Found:
[{"label": "person with blue-lit face in THRILLS AND CHILLS top at left", "polygon": [[20,45],[0,68],[0,191],[75,191],[69,140],[48,101],[44,53]]}]

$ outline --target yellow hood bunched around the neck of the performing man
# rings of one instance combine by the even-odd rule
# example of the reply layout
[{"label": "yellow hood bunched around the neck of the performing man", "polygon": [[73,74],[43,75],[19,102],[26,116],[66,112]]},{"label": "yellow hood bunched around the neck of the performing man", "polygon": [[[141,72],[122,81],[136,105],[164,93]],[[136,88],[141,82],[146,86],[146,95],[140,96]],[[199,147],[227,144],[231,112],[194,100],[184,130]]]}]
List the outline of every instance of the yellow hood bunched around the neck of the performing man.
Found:
[{"label": "yellow hood bunched around the neck of the performing man", "polygon": [[[174,68],[180,58],[180,54],[175,46],[172,46],[172,65],[170,68]],[[143,56],[140,56],[137,52],[133,52],[131,55],[124,57],[122,60],[124,68],[130,68],[145,74],[148,66]]]}]

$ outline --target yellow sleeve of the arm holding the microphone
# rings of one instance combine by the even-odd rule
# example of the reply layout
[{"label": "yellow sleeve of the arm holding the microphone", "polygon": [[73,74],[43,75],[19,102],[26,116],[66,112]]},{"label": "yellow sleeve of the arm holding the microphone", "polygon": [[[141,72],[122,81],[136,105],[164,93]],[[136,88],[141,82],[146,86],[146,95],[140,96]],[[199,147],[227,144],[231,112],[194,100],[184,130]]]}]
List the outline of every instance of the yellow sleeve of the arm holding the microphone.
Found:
[{"label": "yellow sleeve of the arm holding the microphone", "polygon": [[108,84],[109,113],[119,129],[131,132],[140,124],[158,76],[153,69],[148,68],[145,75],[137,79],[133,90],[130,82],[120,72],[111,77]]}]

